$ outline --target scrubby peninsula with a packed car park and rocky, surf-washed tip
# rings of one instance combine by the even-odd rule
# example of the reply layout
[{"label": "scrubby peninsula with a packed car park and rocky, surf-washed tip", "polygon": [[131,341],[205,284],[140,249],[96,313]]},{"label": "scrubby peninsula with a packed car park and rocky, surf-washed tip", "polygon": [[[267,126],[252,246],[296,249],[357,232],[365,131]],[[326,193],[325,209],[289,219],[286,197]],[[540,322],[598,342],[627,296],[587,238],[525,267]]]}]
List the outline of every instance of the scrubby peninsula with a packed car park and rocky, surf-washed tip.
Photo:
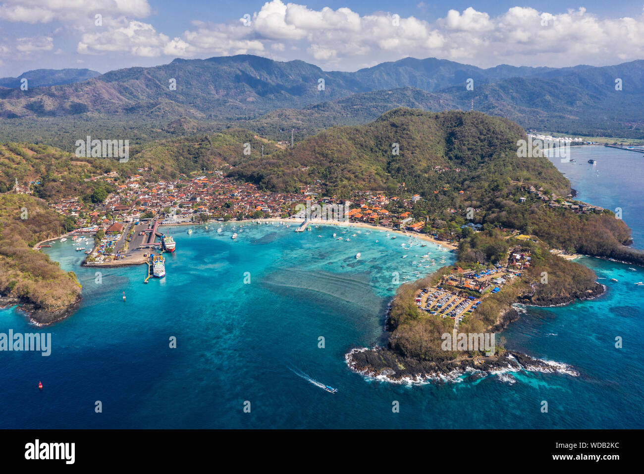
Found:
[{"label": "scrubby peninsula with a packed car park and rocky, surf-washed tip", "polygon": [[388,345],[356,348],[346,355],[347,364],[394,382],[475,379],[519,370],[578,375],[566,364],[507,351],[502,337],[493,353],[467,344],[470,334],[497,333],[518,319],[515,303],[559,306],[605,290],[591,269],[526,237],[490,230],[462,239],[454,265],[398,288],[386,319]]}]

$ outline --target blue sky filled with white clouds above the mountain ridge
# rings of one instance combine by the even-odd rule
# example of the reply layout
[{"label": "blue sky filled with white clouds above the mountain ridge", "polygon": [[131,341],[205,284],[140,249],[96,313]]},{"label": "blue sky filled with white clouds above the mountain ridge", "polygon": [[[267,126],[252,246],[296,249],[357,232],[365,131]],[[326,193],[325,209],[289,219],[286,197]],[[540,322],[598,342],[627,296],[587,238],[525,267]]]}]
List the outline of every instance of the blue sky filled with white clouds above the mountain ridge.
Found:
[{"label": "blue sky filled with white clouds above the mountain ridge", "polygon": [[644,0],[0,0],[0,77],[232,54],[346,71],[407,56],[481,67],[618,64],[644,59],[643,13]]}]

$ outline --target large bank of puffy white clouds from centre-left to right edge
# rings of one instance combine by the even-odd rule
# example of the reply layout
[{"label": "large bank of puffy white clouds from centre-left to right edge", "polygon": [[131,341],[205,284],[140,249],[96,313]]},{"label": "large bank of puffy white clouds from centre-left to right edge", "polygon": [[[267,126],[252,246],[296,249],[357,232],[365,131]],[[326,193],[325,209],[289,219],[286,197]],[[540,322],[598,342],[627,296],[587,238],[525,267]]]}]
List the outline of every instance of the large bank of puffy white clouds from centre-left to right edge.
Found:
[{"label": "large bank of puffy white clouds from centre-left to right edge", "polygon": [[[544,19],[547,24],[543,25]],[[247,23],[247,22],[246,22]],[[564,66],[614,63],[615,57],[644,57],[644,15],[601,19],[584,8],[562,14],[515,6],[491,17],[475,8],[449,10],[433,23],[413,16],[271,0],[251,15],[251,23],[195,22],[184,32],[178,55],[234,54],[243,50],[303,50],[299,56],[326,68],[354,70],[356,64],[435,56],[488,67],[499,63]],[[292,53],[291,53],[292,54]],[[619,56],[618,56],[619,55]],[[291,56],[295,59],[295,56]]]}]

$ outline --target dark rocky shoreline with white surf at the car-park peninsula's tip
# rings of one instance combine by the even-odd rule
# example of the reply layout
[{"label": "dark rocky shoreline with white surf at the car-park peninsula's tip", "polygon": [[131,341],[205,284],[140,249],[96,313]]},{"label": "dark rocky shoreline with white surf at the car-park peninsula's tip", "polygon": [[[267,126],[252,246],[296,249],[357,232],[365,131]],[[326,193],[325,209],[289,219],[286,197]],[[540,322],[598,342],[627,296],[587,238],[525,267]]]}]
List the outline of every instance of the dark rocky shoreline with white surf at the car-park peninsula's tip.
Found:
[{"label": "dark rocky shoreline with white surf at the car-park peninsula's tip", "polygon": [[490,357],[467,355],[453,360],[420,360],[401,357],[387,348],[376,346],[372,349],[354,348],[346,353],[345,361],[355,373],[398,384],[476,380],[518,371],[579,375],[567,364],[512,351]]}]

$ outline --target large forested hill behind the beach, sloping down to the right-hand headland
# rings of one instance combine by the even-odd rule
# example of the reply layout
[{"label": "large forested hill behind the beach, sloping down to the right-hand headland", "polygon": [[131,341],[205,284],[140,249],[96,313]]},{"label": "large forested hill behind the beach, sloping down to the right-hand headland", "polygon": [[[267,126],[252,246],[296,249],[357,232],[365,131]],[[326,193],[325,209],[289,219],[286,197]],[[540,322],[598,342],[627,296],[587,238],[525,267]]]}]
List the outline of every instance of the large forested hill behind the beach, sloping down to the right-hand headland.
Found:
[{"label": "large forested hill behind the beach, sloping down to the right-hand headland", "polygon": [[644,263],[643,253],[625,246],[630,230],[610,211],[578,214],[540,199],[535,190],[562,204],[570,183],[547,157],[518,157],[520,139],[527,139],[520,126],[481,112],[398,108],[370,124],[332,127],[295,148],[238,163],[231,174],[278,191],[320,180],[340,198],[367,190],[419,194],[412,208],[392,201],[388,210],[409,210],[428,222],[427,232],[444,232],[460,230],[470,208],[474,223],[517,229],[571,252]]}]

